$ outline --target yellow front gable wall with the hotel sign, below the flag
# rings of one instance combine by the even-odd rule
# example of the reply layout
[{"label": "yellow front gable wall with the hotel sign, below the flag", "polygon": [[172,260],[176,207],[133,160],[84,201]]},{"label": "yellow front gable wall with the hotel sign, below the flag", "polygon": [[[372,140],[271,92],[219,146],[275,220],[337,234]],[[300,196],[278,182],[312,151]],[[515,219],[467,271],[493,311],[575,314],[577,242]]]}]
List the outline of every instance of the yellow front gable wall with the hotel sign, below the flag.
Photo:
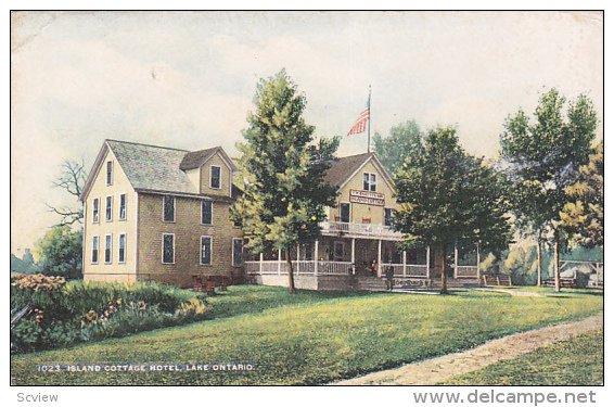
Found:
[{"label": "yellow front gable wall with the hotel sign, below the flag", "polygon": [[[349,201],[349,191],[359,190],[362,191],[362,174],[370,173],[376,174],[376,186],[375,191],[384,194],[384,206],[369,205],[363,203],[356,203]],[[330,208],[330,220],[337,220],[341,218],[340,203],[349,203],[349,221],[355,224],[362,224],[363,219],[370,219],[371,224],[383,225],[384,224],[384,208],[389,207],[393,209],[398,208],[398,204],[394,196],[393,188],[386,182],[382,173],[378,167],[369,161],[364,166],[356,173],[356,175],[347,182],[341,190],[336,199],[335,207]]]}]

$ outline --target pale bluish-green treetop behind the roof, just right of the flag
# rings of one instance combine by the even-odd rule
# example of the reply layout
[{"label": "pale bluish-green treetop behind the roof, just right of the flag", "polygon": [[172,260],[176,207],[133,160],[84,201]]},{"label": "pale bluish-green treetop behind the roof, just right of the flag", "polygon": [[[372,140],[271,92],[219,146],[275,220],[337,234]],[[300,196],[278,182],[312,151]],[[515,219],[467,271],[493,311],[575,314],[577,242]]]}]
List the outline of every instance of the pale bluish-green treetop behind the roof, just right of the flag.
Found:
[{"label": "pale bluish-green treetop behind the roof, just right of the flag", "polygon": [[391,128],[389,136],[373,136],[378,158],[391,174],[400,169],[406,157],[422,152],[422,132],[415,120],[408,120]]}]

